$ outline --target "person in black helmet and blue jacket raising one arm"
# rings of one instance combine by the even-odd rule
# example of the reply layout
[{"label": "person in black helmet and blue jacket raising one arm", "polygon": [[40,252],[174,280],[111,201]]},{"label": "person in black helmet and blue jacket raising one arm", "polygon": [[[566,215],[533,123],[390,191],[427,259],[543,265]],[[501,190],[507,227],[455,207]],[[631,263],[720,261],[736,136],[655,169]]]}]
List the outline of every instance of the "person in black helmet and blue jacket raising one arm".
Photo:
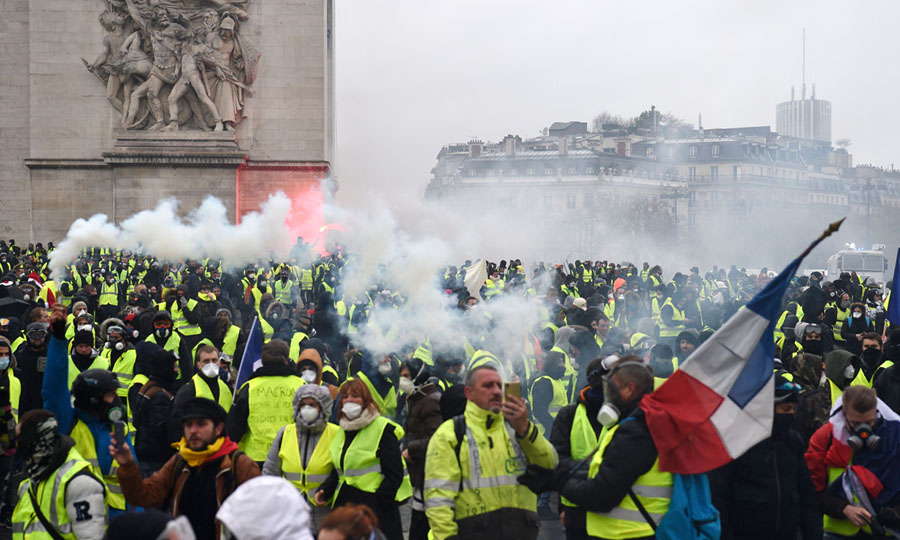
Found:
[{"label": "person in black helmet and blue jacket raising one arm", "polygon": [[[118,465],[109,455],[108,448],[114,423],[126,420],[125,401],[120,394],[123,389],[115,373],[106,369],[87,369],[75,378],[70,393],[65,320],[65,307],[55,304],[50,315],[52,335],[41,390],[43,408],[56,415],[60,432],[72,437],[75,449],[91,463],[91,471],[106,483],[106,502],[110,515],[115,516],[126,510],[126,504],[116,478]],[[134,452],[127,424],[125,430],[125,444]]]}]

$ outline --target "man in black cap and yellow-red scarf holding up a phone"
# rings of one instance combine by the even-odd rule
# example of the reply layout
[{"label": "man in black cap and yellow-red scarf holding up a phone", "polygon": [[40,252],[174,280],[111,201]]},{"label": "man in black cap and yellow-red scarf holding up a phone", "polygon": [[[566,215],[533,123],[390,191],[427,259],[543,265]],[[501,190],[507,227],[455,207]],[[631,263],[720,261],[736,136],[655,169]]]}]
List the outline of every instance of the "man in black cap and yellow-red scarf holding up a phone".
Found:
[{"label": "man in black cap and yellow-red scarf holding up a phone", "polygon": [[259,467],[225,435],[225,411],[218,403],[193,398],[184,404],[184,436],[178,453],[149,478],[130,452],[109,453],[119,464],[117,475],[125,499],[136,506],[168,505],[173,516],[186,516],[197,540],[216,540],[221,531],[216,512],[235,488],[259,476]]}]

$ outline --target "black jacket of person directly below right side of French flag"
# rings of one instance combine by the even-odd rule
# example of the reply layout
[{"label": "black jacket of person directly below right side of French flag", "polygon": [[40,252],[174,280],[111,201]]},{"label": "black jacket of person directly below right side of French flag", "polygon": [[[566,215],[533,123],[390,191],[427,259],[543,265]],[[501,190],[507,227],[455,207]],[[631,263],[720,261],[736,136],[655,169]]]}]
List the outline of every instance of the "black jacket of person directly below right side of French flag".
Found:
[{"label": "black jacket of person directly below right side of French flag", "polygon": [[790,431],[709,473],[722,540],[822,538],[822,515],[804,450],[800,435]]}]

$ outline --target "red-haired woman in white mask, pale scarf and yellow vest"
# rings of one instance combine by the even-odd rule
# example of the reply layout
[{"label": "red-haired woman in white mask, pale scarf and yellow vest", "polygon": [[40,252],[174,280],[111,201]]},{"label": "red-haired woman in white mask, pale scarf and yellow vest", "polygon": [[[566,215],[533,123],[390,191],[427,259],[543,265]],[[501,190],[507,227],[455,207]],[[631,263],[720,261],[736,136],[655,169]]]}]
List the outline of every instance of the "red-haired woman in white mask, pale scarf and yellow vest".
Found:
[{"label": "red-haired woman in white mask, pale scarf and yellow vest", "polygon": [[314,501],[332,507],[347,503],[372,508],[388,540],[403,538],[400,502],[412,495],[400,454],[403,428],[379,413],[369,388],[359,379],[344,383],[340,393],[340,432],[331,444],[334,470]]}]

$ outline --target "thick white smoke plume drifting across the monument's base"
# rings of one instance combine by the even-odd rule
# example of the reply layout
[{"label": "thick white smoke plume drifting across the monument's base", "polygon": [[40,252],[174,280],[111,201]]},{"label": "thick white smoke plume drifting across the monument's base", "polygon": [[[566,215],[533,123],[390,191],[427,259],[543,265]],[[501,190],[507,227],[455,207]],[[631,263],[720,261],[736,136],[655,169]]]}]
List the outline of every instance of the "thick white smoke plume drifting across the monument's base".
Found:
[{"label": "thick white smoke plume drifting across the monument's base", "polygon": [[111,247],[143,251],[163,261],[188,258],[222,259],[226,268],[238,268],[267,257],[284,256],[293,242],[285,226],[291,200],[278,192],[269,196],[260,212],[251,212],[234,225],[222,201],[207,197],[185,218],[178,215],[178,201],[165,199],[116,225],[104,214],[78,219],[66,238],[50,254],[51,275],[62,275],[65,265],[84,248]]}]

